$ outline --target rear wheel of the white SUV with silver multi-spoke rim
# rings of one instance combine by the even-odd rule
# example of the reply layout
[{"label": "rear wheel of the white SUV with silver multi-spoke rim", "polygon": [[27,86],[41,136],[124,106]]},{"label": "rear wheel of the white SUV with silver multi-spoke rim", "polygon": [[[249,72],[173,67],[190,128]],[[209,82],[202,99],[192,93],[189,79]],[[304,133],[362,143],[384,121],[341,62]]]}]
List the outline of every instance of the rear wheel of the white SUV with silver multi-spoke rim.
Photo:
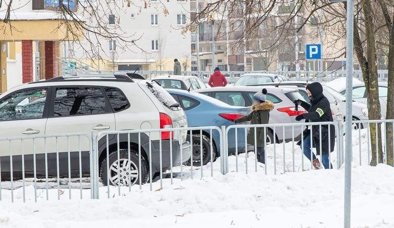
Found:
[{"label": "rear wheel of the white SUV with silver multi-spoke rim", "polygon": [[[118,150],[112,151],[108,157],[110,172],[109,184],[113,186],[132,186],[139,184],[139,177],[141,177],[141,184],[144,184],[148,180],[148,166],[145,159],[141,156],[141,168],[138,165],[138,153],[134,150],[130,150],[130,160],[128,159],[128,149],[119,150],[119,164],[122,169],[117,172],[118,167]],[[125,167],[124,167],[125,166]],[[129,168],[127,168],[129,167]],[[139,174],[141,170],[141,174]],[[100,166],[100,176],[104,186],[108,184],[107,176],[107,158],[103,160]],[[120,177],[120,181],[118,178]]]}]

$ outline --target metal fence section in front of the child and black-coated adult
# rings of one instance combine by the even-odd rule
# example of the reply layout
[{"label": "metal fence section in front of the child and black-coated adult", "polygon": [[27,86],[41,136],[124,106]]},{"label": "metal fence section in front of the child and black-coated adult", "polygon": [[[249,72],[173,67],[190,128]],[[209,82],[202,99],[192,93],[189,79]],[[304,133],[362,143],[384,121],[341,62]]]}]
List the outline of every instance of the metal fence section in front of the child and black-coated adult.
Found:
[{"label": "metal fence section in front of the child and black-coated adult", "polygon": [[[331,126],[333,126],[334,129],[331,129]],[[263,135],[272,134],[273,137],[275,138],[274,143],[271,144],[263,143],[264,144],[263,146],[261,144],[259,146],[258,144],[259,135],[257,135],[256,133],[259,128],[260,128],[260,135],[262,133]],[[322,132],[322,128],[327,129],[325,131],[326,132],[325,135],[323,135],[323,133],[321,134],[319,133],[317,137],[318,141],[315,141],[318,144],[317,149],[319,149],[319,151],[322,151],[322,146],[323,146],[324,149],[327,151],[333,150],[334,153],[336,153],[336,158],[332,159],[331,153],[328,153],[328,164],[331,164],[332,161],[335,161],[336,168],[339,168],[341,165],[340,163],[341,160],[339,159],[339,157],[341,157],[342,155],[340,153],[337,153],[338,151],[340,151],[339,149],[335,149],[335,145],[338,146],[339,143],[335,143],[335,141],[331,142],[331,140],[329,140],[331,136],[338,135],[339,132],[334,122],[232,125],[225,129],[225,135],[228,136],[231,130],[235,131],[235,135],[238,134],[239,130],[241,132],[244,131],[245,136],[243,139],[243,144],[248,144],[248,143],[253,144],[253,151],[252,153],[248,153],[243,156],[241,156],[238,153],[237,149],[235,149],[235,153],[224,153],[225,155],[230,155],[230,157],[225,160],[229,161],[231,159],[232,160],[235,159],[235,161],[233,161],[232,163],[232,165],[234,165],[235,163],[235,167],[229,168],[229,165],[227,163],[225,167],[226,169],[225,173],[234,172],[234,171],[239,172],[240,170],[242,170],[243,172],[245,172],[245,174],[248,174],[250,170],[250,163],[252,163],[252,166],[254,166],[254,169],[252,170],[254,170],[255,172],[264,170],[264,173],[266,175],[269,173],[269,170],[271,170],[272,168],[273,168],[272,174],[274,175],[276,175],[278,172],[283,174],[286,172],[299,172],[299,171],[305,171],[307,169],[313,169],[314,165],[312,159],[308,161],[310,163],[310,166],[306,165],[305,162],[305,160],[308,160],[306,159],[306,156],[310,156],[310,158],[315,157],[313,153],[313,148],[315,147],[314,146],[315,143],[313,142],[313,137],[315,136],[313,136],[314,134],[312,132],[312,128],[317,128],[316,130],[318,130],[319,132]],[[250,130],[249,133],[247,133],[248,129]],[[280,130],[283,134],[282,137],[284,140],[282,142],[278,141],[278,134],[277,134],[278,130]],[[308,135],[310,135],[310,137],[307,137]],[[338,138],[336,137],[335,140],[338,140]],[[236,142],[237,141],[238,140],[236,140]],[[328,141],[328,145],[324,146],[323,143],[325,141]],[[226,144],[224,148],[228,149],[229,147],[227,145],[227,142],[225,143]],[[278,146],[278,144],[280,145]],[[235,148],[237,148],[237,146],[235,146]],[[310,152],[308,154],[306,153],[304,154],[305,149],[310,149]],[[259,150],[261,154],[264,154],[263,155],[264,158],[258,158],[259,156],[261,156],[261,154],[259,155]],[[242,160],[240,160],[239,157],[241,157]],[[325,157],[323,158],[322,153],[320,153],[320,156],[317,156],[316,158],[319,157],[320,157],[319,162],[324,162],[323,159]]]}]

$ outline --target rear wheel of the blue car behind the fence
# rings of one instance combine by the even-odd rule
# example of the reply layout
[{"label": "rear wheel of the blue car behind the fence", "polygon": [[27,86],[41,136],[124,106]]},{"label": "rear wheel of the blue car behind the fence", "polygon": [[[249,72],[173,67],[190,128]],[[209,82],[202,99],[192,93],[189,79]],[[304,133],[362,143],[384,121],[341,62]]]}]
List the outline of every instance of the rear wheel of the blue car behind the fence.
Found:
[{"label": "rear wheel of the blue car behind the fence", "polygon": [[[208,136],[203,135],[203,165],[207,165],[211,162],[211,140]],[[193,155],[193,166],[201,165],[201,144],[200,144],[200,134],[193,134],[193,144],[192,144],[192,155]],[[212,145],[212,159],[215,161],[216,159],[216,148],[215,145]],[[190,159],[186,162],[187,166],[191,165]]]}]

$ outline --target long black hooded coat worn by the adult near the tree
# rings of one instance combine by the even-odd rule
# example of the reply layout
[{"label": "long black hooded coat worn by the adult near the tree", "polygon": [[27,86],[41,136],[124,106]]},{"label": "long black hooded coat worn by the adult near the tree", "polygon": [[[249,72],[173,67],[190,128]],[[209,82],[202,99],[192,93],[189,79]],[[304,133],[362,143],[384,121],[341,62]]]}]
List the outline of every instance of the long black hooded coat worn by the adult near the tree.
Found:
[{"label": "long black hooded coat worn by the adult near the tree", "polygon": [[[332,122],[330,102],[324,97],[321,84],[309,84],[307,89],[311,92],[312,98],[311,104],[305,101],[301,103],[301,106],[308,110],[308,113],[303,114],[303,119],[309,122]],[[309,135],[310,132],[310,130],[304,131],[304,137]],[[322,155],[327,155],[335,147],[335,126],[333,124],[321,125],[321,129],[319,125],[312,126],[313,142],[316,146],[317,155],[320,155],[320,135]]]}]

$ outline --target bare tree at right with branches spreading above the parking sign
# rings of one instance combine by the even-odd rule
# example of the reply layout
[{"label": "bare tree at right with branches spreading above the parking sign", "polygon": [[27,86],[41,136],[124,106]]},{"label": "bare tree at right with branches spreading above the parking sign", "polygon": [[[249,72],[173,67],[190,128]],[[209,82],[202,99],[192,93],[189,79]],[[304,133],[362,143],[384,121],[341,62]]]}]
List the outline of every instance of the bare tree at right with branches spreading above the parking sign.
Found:
[{"label": "bare tree at right with branches spreading above the parking sign", "polygon": [[[378,49],[389,50],[388,104],[394,105],[394,3],[390,0],[374,3],[371,0],[356,0],[355,6],[354,50],[367,89],[369,118],[378,120],[381,117],[376,54]],[[290,62],[297,59],[287,53],[295,53],[294,47],[298,44],[295,44],[294,40],[301,35],[315,42],[323,42],[332,48],[332,53],[325,56],[326,60],[333,61],[346,53],[343,42],[346,38],[346,3],[331,3],[329,0],[217,0],[208,3],[193,19],[191,24],[204,23],[212,19],[221,26],[225,26],[226,20],[229,20],[230,24],[233,24],[233,21],[240,22],[237,23],[238,26],[227,30],[229,36],[234,37],[231,45],[240,49],[244,48],[244,44],[256,42],[256,37],[261,37],[259,34],[263,26],[265,34],[274,38],[271,45],[267,45],[264,50],[279,50],[279,58],[287,57]],[[272,23],[272,20],[275,23]],[[313,29],[307,26],[312,22]],[[185,28],[187,29],[188,27]],[[236,36],[233,35],[235,33]],[[281,52],[281,49],[284,51]],[[387,118],[394,118],[394,110],[387,109]],[[386,134],[392,136],[392,125],[389,127],[391,128],[387,128]],[[373,138],[371,165],[376,165],[383,161],[381,127],[379,124],[378,127],[372,124],[370,129]],[[391,153],[392,144],[390,148]],[[392,165],[392,153],[387,155],[391,157],[387,161]]]}]

